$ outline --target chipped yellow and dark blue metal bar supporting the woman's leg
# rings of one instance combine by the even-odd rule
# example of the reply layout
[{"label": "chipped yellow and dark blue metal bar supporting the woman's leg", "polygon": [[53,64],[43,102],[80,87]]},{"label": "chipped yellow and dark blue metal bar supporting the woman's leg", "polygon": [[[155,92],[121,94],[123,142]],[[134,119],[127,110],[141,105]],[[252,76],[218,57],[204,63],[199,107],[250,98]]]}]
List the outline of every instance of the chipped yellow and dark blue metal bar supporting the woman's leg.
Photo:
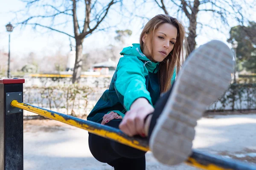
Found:
[{"label": "chipped yellow and dark blue metal bar supporting the woman's leg", "polygon": [[[17,107],[26,111],[31,111],[41,116],[45,116],[50,119],[66,123],[68,125],[79,127],[81,129],[87,130],[90,133],[114,140],[116,142],[128,145],[130,147],[134,147],[139,150],[149,150],[147,140],[127,136],[124,133],[122,133],[121,130],[110,126],[101,125],[99,123],[91,121],[86,121],[83,119],[79,119],[73,116],[65,115],[54,111],[49,111],[44,108],[39,108],[23,102],[18,102],[17,100],[13,100],[11,102],[11,105],[13,107]],[[189,156],[189,158],[186,160],[186,163],[204,170],[256,170],[256,166],[244,164],[241,161],[224,159],[220,156],[212,156],[195,150],[193,150],[191,156]]]}]

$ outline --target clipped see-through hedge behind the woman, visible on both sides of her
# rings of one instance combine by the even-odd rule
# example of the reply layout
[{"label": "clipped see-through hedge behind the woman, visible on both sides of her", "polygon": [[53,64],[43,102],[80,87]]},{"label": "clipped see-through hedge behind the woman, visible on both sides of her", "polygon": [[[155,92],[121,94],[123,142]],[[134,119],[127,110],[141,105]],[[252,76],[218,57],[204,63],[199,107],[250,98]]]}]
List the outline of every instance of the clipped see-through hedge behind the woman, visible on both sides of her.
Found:
[{"label": "clipped see-through hedge behind the woman, visible on both sides of her", "polygon": [[[24,87],[24,102],[73,116],[90,113],[106,88],[66,84]],[[207,111],[242,111],[256,109],[256,84],[231,84]]]}]

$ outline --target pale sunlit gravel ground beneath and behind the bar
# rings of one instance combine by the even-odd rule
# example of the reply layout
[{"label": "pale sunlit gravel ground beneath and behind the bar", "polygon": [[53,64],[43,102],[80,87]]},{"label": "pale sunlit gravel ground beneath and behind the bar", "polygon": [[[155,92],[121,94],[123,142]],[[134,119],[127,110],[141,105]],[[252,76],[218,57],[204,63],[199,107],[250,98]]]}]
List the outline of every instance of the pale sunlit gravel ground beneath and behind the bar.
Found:
[{"label": "pale sunlit gravel ground beneath and behind the bar", "polygon": [[[256,163],[256,114],[208,116],[198,121],[193,148]],[[52,120],[24,121],[24,170],[113,170],[93,158],[85,130]],[[147,170],[197,170],[168,167],[146,154]]]}]

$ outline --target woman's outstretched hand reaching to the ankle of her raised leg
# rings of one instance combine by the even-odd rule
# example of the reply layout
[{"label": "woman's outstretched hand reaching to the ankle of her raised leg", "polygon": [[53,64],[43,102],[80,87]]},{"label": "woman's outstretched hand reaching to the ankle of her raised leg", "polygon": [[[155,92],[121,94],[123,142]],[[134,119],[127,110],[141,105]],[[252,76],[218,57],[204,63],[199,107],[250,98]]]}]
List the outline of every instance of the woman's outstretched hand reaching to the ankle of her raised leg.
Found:
[{"label": "woman's outstretched hand reaching to the ankle of her raised leg", "polygon": [[125,113],[119,129],[128,136],[139,134],[145,137],[144,119],[149,113],[154,111],[153,106],[145,98],[139,98],[133,102],[130,111]]}]

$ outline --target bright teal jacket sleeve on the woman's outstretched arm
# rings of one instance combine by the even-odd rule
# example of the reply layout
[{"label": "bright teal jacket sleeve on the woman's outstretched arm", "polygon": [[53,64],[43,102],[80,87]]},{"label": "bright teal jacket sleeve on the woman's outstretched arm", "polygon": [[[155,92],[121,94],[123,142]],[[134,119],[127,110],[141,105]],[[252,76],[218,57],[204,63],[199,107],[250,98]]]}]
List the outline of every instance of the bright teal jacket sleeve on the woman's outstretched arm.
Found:
[{"label": "bright teal jacket sleeve on the woman's outstretched arm", "polygon": [[115,88],[117,93],[124,97],[123,105],[126,111],[129,111],[132,103],[140,97],[144,97],[153,105],[145,85],[143,63],[137,57],[121,57],[116,70]]}]

